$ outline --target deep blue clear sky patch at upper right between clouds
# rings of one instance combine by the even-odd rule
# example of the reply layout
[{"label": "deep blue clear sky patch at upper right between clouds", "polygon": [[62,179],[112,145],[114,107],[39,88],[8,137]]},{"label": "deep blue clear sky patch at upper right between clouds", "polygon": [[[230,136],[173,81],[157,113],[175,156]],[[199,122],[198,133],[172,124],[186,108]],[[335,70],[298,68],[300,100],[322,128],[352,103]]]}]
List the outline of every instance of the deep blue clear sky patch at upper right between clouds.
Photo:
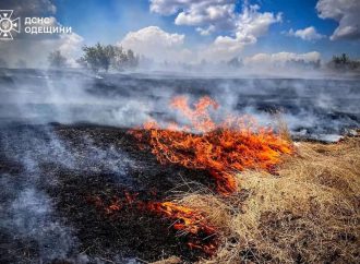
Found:
[{"label": "deep blue clear sky patch at upper right between clouds", "polygon": [[[262,0],[262,10],[283,12],[284,21],[280,24],[273,25],[268,36],[263,37],[257,43],[259,49],[268,52],[278,52],[287,50],[291,52],[308,52],[311,50],[321,51],[324,57],[332,57],[334,53],[347,52],[353,57],[359,57],[359,41],[353,40],[336,40],[332,41],[327,38],[317,41],[304,41],[299,38],[288,37],[280,34],[283,31],[290,28],[305,28],[314,26],[319,33],[331,36],[337,27],[338,23],[334,20],[323,20],[317,16],[315,5],[316,0]],[[360,2],[360,1],[359,1]]]}]

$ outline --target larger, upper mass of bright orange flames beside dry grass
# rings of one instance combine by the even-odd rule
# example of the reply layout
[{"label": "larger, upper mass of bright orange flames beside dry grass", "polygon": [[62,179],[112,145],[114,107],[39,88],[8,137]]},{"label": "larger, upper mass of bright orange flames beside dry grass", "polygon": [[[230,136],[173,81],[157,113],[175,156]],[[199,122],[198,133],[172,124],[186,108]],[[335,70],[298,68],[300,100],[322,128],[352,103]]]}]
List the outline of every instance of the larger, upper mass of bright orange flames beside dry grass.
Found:
[{"label": "larger, upper mass of bright orange flames beside dry grass", "polygon": [[161,164],[207,170],[221,194],[237,190],[235,171],[272,171],[281,154],[293,152],[288,141],[271,128],[257,125],[251,117],[228,116],[225,121],[215,122],[209,110],[218,110],[219,105],[207,96],[193,107],[187,97],[175,97],[170,107],[180,110],[190,124],[170,123],[161,129],[156,121],[149,121],[131,133],[148,144]]}]

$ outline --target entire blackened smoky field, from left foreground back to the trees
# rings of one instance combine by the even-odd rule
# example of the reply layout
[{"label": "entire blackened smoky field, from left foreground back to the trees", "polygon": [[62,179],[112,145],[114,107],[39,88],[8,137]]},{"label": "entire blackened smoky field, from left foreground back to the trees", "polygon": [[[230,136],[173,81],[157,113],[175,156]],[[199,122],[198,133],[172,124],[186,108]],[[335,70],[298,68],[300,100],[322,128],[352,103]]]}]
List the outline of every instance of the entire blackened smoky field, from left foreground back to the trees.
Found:
[{"label": "entire blackened smoky field, from left foreground back to the trees", "polygon": [[167,107],[173,96],[194,103],[207,95],[225,112],[250,113],[266,124],[269,113],[280,110],[292,136],[316,141],[360,122],[358,80],[99,79],[9,69],[0,75],[0,263],[127,263],[128,257],[167,255],[191,262],[201,256],[164,218],[131,207],[109,218],[88,202],[92,196],[108,201],[124,190],[164,201],[200,184],[214,187],[204,171],[161,166],[125,130],[101,127],[133,128],[148,118],[178,121]]}]

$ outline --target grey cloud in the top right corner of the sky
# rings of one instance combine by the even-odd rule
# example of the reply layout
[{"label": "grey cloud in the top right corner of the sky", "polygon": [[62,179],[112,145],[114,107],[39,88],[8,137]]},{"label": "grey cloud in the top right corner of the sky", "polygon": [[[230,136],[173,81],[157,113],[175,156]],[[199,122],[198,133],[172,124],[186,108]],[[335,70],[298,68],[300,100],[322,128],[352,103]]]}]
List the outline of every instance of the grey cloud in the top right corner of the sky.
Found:
[{"label": "grey cloud in the top right corner of the sky", "polygon": [[339,23],[331,36],[332,40],[360,38],[359,0],[319,0],[316,9],[321,19],[332,19]]}]

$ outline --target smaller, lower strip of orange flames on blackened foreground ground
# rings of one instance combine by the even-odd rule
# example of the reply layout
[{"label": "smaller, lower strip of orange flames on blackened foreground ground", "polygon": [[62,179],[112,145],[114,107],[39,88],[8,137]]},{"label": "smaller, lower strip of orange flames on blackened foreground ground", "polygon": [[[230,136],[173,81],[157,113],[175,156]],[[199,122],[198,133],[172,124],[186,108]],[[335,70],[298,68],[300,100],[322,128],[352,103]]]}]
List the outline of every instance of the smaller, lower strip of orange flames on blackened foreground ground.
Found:
[{"label": "smaller, lower strip of orange flames on blackened foreground ground", "polygon": [[136,194],[125,192],[124,199],[115,196],[109,204],[99,196],[91,199],[91,201],[98,208],[104,209],[107,215],[113,215],[127,206],[132,206],[140,212],[161,216],[172,221],[171,228],[179,231],[180,235],[187,236],[190,249],[199,249],[207,255],[215,253],[217,249],[216,228],[207,223],[202,213],[173,202],[143,202],[136,196]]}]

